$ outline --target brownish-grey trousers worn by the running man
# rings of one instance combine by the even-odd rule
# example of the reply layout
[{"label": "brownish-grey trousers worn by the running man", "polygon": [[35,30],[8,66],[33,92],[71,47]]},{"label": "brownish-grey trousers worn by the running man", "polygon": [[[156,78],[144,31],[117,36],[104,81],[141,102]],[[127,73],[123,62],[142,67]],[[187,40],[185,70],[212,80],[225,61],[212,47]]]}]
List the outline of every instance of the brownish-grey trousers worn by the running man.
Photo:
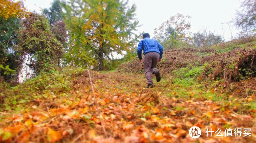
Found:
[{"label": "brownish-grey trousers worn by the running man", "polygon": [[152,77],[151,73],[157,71],[156,64],[159,60],[160,54],[156,52],[149,52],[145,54],[144,59],[144,69],[145,69],[145,76],[147,78],[147,84],[152,84]]}]

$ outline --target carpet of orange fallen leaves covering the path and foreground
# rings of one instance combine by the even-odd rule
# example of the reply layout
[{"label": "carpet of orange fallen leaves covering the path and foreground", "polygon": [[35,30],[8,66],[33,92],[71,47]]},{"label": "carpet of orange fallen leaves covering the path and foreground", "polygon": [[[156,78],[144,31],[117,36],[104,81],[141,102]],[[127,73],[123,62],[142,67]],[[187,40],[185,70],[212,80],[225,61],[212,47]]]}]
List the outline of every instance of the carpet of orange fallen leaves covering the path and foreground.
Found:
[{"label": "carpet of orange fallen leaves covering the path and foreground", "polygon": [[[164,76],[145,89],[143,74],[84,71],[68,97],[34,100],[19,113],[1,112],[4,142],[254,142],[255,110],[234,112],[233,103],[180,97]],[[172,86],[172,87],[171,87]],[[181,88],[181,87],[180,87]],[[187,90],[191,90],[187,88]],[[195,91],[188,91],[195,92]],[[218,92],[211,95],[218,96]],[[196,93],[196,92],[195,92]],[[194,94],[195,94],[194,93]],[[193,94],[193,93],[192,93]],[[192,96],[192,94],[190,96]],[[255,98],[255,97],[254,97]],[[239,100],[239,99],[237,99]],[[255,99],[254,99],[255,100]],[[98,104],[97,104],[98,103]],[[253,112],[254,111],[254,112]],[[198,126],[199,139],[188,130]],[[207,128],[252,128],[252,137],[207,138]]]}]

